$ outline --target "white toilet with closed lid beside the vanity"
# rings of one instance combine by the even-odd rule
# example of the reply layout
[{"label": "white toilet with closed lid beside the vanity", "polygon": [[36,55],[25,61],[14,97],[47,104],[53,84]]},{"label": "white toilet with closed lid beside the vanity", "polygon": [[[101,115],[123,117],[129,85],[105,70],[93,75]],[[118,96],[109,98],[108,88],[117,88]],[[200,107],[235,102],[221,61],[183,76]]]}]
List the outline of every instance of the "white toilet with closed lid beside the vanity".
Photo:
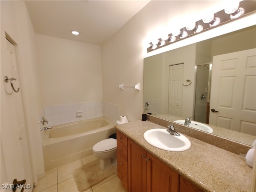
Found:
[{"label": "white toilet with closed lid beside the vanity", "polygon": [[94,155],[100,159],[100,168],[108,169],[116,165],[116,139],[108,138],[92,147]]}]

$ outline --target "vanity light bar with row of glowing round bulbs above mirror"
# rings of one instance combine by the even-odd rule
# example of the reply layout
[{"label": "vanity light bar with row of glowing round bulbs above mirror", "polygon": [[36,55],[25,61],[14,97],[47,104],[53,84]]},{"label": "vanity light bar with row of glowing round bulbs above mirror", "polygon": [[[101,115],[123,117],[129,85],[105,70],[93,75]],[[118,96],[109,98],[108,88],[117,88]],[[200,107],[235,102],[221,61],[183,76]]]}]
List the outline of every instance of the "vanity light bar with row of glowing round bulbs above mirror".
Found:
[{"label": "vanity light bar with row of glowing round bulbs above mirror", "polygon": [[192,35],[196,35],[200,32],[212,29],[216,26],[226,24],[227,22],[231,22],[232,20],[242,18],[243,16],[248,15],[255,11],[256,1],[241,1],[238,8],[232,13],[227,12],[227,10],[226,13],[225,10],[223,9],[213,14],[212,18],[204,18],[195,22],[194,28],[191,26],[186,26],[184,28],[181,28],[180,32],[173,32],[168,34],[168,36],[166,35],[166,37],[164,38],[157,39],[155,42],[150,42],[150,47],[147,48],[147,52],[151,52],[166,45],[170,45],[174,42],[188,38]]}]

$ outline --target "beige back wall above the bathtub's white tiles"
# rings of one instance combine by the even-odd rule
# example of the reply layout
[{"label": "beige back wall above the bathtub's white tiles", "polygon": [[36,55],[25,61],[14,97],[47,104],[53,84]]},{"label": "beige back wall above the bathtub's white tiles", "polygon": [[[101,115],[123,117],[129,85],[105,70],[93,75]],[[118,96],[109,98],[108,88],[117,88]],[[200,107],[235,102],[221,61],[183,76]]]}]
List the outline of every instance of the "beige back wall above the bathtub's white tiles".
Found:
[{"label": "beige back wall above the bathtub's white tiles", "polygon": [[102,101],[100,46],[36,34],[44,106]]}]

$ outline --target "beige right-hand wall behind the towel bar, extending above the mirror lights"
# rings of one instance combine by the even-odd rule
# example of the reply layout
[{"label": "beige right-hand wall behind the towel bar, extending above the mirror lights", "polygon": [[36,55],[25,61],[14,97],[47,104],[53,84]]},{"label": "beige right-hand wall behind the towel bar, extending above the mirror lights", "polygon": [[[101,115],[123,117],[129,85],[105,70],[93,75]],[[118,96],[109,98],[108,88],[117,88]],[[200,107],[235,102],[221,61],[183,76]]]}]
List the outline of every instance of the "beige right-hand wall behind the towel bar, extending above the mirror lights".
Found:
[{"label": "beige right-hand wall behind the towel bar, extending above the mirror lights", "polygon": [[[103,101],[120,105],[120,114],[130,121],[143,113],[143,58],[158,27],[184,27],[188,18],[202,18],[219,1],[151,1],[102,45]],[[220,10],[220,8],[218,8]],[[158,33],[159,38],[160,32]],[[186,53],[184,53],[184,56]],[[118,89],[118,85],[141,84],[141,91]]]}]

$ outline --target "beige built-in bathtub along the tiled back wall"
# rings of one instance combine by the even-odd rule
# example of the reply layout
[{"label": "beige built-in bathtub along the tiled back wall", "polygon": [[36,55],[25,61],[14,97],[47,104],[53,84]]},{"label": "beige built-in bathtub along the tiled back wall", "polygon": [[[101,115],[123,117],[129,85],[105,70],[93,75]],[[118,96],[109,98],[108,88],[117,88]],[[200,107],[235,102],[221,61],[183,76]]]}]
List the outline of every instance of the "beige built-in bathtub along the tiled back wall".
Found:
[{"label": "beige built-in bathtub along the tiled back wall", "polygon": [[52,126],[44,131],[45,171],[93,154],[94,144],[114,133],[114,124],[104,117]]}]

